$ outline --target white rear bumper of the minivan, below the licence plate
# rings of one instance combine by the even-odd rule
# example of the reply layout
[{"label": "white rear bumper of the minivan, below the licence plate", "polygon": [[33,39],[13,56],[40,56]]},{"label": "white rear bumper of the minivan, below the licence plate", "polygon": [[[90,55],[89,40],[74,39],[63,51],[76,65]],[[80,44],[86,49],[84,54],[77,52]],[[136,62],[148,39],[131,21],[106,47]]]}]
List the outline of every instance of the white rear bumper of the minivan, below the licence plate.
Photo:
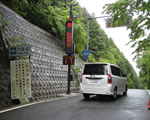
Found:
[{"label": "white rear bumper of the minivan, below the licence plate", "polygon": [[96,95],[113,95],[112,85],[108,84],[107,87],[84,87],[80,85],[80,93],[96,94]]}]

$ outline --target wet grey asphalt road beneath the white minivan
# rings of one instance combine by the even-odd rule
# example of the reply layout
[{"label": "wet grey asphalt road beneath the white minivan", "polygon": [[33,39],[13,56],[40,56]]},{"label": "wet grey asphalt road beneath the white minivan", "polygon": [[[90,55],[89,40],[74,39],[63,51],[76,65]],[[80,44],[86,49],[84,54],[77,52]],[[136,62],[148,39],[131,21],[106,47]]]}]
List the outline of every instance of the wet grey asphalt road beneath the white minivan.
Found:
[{"label": "wet grey asphalt road beneath the white minivan", "polygon": [[109,96],[82,95],[45,102],[1,113],[0,120],[150,120],[149,95],[145,90],[128,90],[113,101]]}]

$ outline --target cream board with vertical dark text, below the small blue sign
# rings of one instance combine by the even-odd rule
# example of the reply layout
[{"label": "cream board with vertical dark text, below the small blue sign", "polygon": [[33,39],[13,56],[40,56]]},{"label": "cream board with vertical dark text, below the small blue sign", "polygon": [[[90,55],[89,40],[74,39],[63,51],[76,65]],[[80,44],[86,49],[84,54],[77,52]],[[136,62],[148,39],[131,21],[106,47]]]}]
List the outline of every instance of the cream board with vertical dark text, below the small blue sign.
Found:
[{"label": "cream board with vertical dark text, below the small blue sign", "polygon": [[21,99],[31,97],[31,81],[29,60],[10,62],[11,98]]}]

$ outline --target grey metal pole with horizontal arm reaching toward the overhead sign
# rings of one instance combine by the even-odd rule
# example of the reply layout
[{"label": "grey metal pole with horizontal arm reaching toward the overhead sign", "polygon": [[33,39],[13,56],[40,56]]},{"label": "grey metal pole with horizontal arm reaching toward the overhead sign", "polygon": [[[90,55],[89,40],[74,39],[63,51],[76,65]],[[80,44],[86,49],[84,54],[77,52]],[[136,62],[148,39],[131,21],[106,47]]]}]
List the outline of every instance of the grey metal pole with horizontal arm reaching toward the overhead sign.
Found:
[{"label": "grey metal pole with horizontal arm reaching toward the overhead sign", "polygon": [[[100,17],[93,17],[93,18],[88,17],[87,18],[87,47],[86,47],[86,50],[89,50],[89,20],[97,19],[97,18],[108,18],[108,17],[111,17],[111,16],[100,16]],[[86,62],[88,63],[88,59],[86,60]]]}]

